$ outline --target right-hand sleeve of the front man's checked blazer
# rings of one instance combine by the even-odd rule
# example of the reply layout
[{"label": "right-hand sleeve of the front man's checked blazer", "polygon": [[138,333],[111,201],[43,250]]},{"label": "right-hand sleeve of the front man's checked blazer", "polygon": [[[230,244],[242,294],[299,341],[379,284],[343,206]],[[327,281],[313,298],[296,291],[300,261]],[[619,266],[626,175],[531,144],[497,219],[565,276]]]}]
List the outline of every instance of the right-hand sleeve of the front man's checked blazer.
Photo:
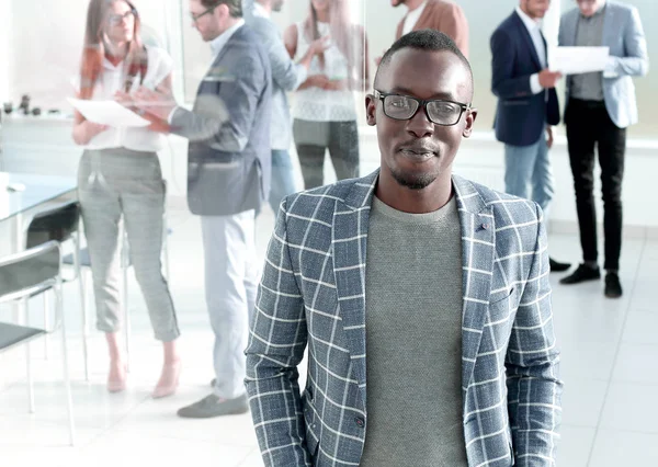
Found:
[{"label": "right-hand sleeve of the front man's checked blazer", "polygon": [[535,205],[536,246],[506,355],[508,411],[518,466],[554,466],[561,422],[559,351],[553,328],[547,239]]}]

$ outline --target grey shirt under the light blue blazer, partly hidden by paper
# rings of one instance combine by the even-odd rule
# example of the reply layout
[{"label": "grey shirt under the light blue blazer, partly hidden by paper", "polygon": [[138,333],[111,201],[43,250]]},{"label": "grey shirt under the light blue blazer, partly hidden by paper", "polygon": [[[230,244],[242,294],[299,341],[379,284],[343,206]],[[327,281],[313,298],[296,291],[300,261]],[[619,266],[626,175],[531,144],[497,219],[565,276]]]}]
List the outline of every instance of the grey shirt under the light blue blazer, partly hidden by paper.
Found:
[{"label": "grey shirt under the light blue blazer, partly hidden by paper", "polygon": [[[576,26],[577,46],[601,46],[603,43],[604,13],[605,5],[590,18],[579,15],[578,25]],[[601,71],[572,75],[569,77],[569,95],[571,98],[585,101],[603,101],[603,73]]]}]

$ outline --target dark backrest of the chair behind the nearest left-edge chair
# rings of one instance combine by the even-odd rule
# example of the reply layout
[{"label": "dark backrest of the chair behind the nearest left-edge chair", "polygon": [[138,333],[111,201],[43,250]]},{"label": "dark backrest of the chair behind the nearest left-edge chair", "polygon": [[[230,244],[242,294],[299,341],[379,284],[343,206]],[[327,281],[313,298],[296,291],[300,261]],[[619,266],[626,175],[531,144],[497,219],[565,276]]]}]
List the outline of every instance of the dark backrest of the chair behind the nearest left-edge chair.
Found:
[{"label": "dark backrest of the chair behind the nearest left-edge chair", "polygon": [[79,224],[80,205],[77,202],[43,210],[32,218],[25,246],[33,248],[49,240],[64,242],[78,231]]}]

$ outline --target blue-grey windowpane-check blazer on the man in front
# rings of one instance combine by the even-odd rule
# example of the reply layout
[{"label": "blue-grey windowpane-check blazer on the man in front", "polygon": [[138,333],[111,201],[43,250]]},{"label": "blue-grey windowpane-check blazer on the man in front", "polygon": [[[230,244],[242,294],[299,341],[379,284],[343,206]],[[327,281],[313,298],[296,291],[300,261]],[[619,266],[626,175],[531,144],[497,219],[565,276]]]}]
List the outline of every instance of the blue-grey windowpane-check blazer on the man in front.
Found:
[{"label": "blue-grey windowpane-check blazer on the man in front", "polygon": [[[377,178],[378,171],[281,204],[246,351],[266,466],[358,466],[361,459],[365,257]],[[554,465],[561,381],[541,209],[456,175],[453,185],[463,240],[468,465]],[[299,394],[297,365],[307,345]]]}]

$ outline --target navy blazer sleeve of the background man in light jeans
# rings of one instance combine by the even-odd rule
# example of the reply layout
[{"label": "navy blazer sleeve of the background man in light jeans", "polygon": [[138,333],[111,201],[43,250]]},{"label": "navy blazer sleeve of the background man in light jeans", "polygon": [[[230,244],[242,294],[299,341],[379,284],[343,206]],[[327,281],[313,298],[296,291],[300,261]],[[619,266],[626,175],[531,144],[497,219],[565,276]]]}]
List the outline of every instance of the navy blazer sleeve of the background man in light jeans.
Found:
[{"label": "navy blazer sleeve of the background man in light jeans", "polygon": [[491,92],[499,99],[525,98],[532,95],[531,75],[513,76],[515,46],[503,30],[491,35]]}]

